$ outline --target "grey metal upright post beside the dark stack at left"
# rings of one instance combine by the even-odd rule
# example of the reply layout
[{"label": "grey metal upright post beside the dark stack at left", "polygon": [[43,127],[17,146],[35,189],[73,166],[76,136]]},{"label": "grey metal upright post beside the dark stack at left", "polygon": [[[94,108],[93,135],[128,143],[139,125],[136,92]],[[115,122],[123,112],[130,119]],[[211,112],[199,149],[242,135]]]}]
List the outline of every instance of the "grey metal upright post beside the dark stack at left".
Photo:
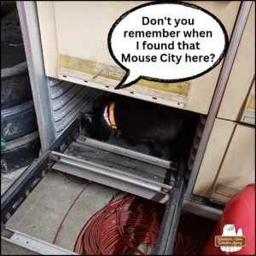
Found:
[{"label": "grey metal upright post beside the dark stack at left", "polygon": [[[26,61],[31,82],[33,101],[38,118],[38,131],[43,152],[55,141],[50,112],[49,78],[44,73],[44,58],[38,23],[37,3],[17,1],[20,28],[26,51]],[[44,102],[42,104],[42,102]]]}]

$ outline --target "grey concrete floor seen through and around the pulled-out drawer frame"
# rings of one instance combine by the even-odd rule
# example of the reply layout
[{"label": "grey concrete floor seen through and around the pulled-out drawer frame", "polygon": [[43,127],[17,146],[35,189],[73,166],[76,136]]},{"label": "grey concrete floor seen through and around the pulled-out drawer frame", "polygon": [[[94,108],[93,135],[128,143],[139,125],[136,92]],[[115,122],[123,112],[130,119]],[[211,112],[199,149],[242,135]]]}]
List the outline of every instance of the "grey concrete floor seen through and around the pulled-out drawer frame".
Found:
[{"label": "grey concrete floor seen through and around the pulled-out drawer frame", "polygon": [[[26,168],[22,168],[1,175],[1,195],[25,170]],[[84,188],[84,185],[86,185],[86,189],[74,204],[72,211],[68,213],[55,243],[57,246],[73,251],[81,227],[92,215],[108,204],[118,190],[101,184],[88,183],[81,179],[73,179],[61,172],[52,171],[43,178],[32,194],[20,205],[7,222],[6,227],[51,243],[68,207]],[[124,195],[125,193],[121,193],[119,196]],[[23,247],[1,240],[2,254],[33,255],[38,253],[32,253]]]}]

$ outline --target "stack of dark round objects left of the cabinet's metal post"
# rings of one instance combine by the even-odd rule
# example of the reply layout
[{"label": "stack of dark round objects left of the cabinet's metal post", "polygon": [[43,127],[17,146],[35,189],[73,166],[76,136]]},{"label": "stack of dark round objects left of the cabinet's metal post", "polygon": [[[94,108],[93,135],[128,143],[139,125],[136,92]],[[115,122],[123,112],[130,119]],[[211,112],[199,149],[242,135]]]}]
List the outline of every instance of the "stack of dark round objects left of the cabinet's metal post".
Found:
[{"label": "stack of dark round objects left of the cabinet's metal post", "polygon": [[1,20],[1,172],[38,158],[40,140],[17,10]]}]

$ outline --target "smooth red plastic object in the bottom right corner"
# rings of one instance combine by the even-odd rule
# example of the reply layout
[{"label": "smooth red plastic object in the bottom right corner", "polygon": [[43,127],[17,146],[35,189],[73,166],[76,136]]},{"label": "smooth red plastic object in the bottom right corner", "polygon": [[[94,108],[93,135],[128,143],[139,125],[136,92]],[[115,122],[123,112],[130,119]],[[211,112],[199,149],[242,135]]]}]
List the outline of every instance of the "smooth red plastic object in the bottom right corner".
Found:
[{"label": "smooth red plastic object in the bottom right corner", "polygon": [[[246,246],[240,251],[229,253],[221,251],[220,247],[215,247],[215,236],[222,236],[226,224],[235,224],[236,232],[241,229],[242,236],[246,236]],[[201,254],[255,255],[255,184],[247,185],[230,199],[224,207],[218,226]]]}]

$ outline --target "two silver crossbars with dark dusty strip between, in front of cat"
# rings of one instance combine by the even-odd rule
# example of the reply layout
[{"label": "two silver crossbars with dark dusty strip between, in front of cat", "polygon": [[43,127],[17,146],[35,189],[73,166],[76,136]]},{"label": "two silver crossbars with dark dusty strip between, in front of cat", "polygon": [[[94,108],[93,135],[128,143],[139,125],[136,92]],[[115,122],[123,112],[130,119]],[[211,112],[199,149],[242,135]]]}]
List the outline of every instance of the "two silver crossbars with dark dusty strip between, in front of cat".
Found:
[{"label": "two silver crossbars with dark dusty strip between, in front of cat", "polygon": [[82,136],[61,153],[51,151],[53,169],[165,204],[177,163]]}]

